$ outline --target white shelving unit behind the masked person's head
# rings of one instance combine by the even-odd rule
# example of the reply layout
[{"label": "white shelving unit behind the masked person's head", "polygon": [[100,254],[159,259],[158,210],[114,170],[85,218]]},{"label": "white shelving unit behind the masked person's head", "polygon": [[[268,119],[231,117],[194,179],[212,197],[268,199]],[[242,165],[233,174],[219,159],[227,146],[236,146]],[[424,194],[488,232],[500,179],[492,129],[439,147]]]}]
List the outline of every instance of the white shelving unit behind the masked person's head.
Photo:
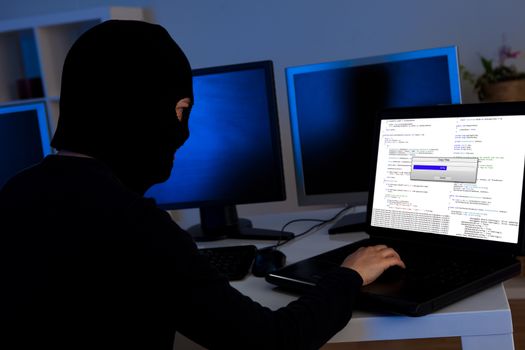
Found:
[{"label": "white shelving unit behind the masked person's head", "polygon": [[[0,106],[44,101],[53,134],[66,54],[84,31],[109,19],[144,20],[144,10],[98,7],[0,22]],[[18,86],[24,83],[30,88]]]}]

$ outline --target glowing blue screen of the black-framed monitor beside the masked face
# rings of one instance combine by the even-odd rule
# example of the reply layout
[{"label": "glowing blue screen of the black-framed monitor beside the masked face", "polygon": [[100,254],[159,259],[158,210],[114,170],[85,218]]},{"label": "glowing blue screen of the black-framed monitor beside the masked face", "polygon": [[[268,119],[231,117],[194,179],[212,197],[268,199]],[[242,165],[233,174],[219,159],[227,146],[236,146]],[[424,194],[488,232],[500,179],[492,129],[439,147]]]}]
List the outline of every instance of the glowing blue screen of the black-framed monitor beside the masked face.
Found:
[{"label": "glowing blue screen of the black-framed monitor beside the masked face", "polygon": [[195,72],[190,138],[169,180],[146,196],[166,208],[284,199],[270,69],[245,64]]}]

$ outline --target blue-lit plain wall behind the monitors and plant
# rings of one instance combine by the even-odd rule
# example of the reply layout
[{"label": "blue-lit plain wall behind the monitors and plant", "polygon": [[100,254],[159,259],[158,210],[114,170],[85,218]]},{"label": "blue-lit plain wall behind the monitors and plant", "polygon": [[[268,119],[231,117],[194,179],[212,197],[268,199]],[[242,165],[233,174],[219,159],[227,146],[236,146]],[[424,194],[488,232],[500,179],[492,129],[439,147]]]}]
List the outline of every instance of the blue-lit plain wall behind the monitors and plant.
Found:
[{"label": "blue-lit plain wall behind the monitors and plant", "polygon": [[[525,48],[520,0],[1,0],[0,20],[100,5],[148,8],[194,68],[274,61],[288,200],[243,206],[245,213],[297,209],[285,67],[457,45],[460,61],[477,73],[479,55],[496,58],[503,34]],[[470,86],[462,90],[464,102],[476,101]]]}]

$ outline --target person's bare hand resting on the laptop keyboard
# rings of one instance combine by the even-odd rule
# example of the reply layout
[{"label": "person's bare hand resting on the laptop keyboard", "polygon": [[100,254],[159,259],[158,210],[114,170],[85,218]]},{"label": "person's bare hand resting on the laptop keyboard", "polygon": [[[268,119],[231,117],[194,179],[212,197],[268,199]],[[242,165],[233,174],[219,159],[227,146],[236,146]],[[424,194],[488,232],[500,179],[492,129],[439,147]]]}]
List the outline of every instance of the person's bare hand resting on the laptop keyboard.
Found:
[{"label": "person's bare hand resting on the laptop keyboard", "polygon": [[399,254],[386,245],[361,247],[341,264],[343,267],[357,271],[363,279],[363,286],[374,282],[386,269],[394,265],[405,268],[405,263]]}]

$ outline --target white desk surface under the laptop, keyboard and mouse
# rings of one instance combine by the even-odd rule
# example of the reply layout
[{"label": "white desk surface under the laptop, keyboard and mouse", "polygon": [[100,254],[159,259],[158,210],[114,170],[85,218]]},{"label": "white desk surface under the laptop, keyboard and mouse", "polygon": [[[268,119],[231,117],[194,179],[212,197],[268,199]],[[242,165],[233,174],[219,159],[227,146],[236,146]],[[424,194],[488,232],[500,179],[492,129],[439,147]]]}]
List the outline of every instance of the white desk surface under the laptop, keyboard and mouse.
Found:
[{"label": "white desk surface under the laptop, keyboard and mouse", "polygon": [[[290,219],[329,218],[335,211],[301,212],[253,217],[254,226],[279,229]],[[297,223],[290,231],[301,232],[312,223]],[[300,237],[281,250],[287,263],[319,254],[350,242],[366,238],[364,233],[330,236],[327,228]],[[227,240],[202,246],[235,245],[240,243],[268,245],[264,241]],[[199,244],[200,245],[200,244]],[[267,283],[263,278],[249,276],[232,285],[242,293],[271,309],[287,305],[297,298]],[[513,350],[512,319],[503,285],[497,285],[435,313],[423,317],[381,315],[355,311],[348,325],[337,333],[331,343],[415,338],[461,337],[465,350]],[[180,348],[178,348],[180,349]]]}]

